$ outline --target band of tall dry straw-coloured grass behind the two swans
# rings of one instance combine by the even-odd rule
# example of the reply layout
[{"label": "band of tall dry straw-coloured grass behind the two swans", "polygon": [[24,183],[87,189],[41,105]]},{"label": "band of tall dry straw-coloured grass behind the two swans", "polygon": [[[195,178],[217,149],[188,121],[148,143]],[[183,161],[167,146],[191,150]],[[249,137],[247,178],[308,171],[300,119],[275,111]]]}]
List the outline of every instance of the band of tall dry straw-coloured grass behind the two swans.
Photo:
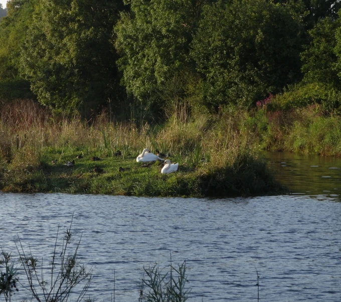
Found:
[{"label": "band of tall dry straw-coloured grass behind the two swans", "polygon": [[[19,137],[19,145],[17,142]],[[79,115],[54,116],[33,101],[17,101],[0,110],[0,159],[16,166],[38,165],[46,152],[61,157],[71,150],[87,155],[137,155],[147,147],[169,153],[182,163],[233,165],[241,152],[249,152],[250,132],[239,128],[236,117],[209,115],[172,116],[155,131],[148,124],[110,122],[103,112],[89,124]],[[19,147],[18,147],[19,146]]]}]

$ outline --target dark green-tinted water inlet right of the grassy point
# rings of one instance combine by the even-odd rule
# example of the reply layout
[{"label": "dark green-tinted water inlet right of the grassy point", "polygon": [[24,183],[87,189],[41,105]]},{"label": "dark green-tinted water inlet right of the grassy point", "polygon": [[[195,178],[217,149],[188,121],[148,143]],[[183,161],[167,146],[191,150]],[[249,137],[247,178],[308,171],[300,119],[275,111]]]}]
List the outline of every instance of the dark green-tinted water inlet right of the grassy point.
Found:
[{"label": "dark green-tinted water inlet right of the grassy point", "polygon": [[292,194],[323,194],[341,200],[341,159],[281,152],[264,152],[263,156]]}]

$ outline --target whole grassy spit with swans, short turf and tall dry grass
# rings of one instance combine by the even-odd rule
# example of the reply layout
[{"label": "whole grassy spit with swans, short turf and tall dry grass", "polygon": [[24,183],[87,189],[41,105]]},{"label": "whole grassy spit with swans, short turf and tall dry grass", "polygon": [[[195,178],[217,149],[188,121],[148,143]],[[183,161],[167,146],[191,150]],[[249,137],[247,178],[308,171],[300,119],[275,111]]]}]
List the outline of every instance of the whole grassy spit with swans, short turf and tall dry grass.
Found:
[{"label": "whole grassy spit with swans, short turf and tall dry grass", "polygon": [[[280,190],[257,158],[251,133],[232,116],[173,116],[162,127],[138,129],[104,113],[91,125],[77,116],[57,118],[30,101],[7,110],[0,123],[3,191],[203,197]],[[179,171],[162,175],[160,161],[137,163],[144,147],[169,153]],[[73,160],[75,166],[65,165]]]}]

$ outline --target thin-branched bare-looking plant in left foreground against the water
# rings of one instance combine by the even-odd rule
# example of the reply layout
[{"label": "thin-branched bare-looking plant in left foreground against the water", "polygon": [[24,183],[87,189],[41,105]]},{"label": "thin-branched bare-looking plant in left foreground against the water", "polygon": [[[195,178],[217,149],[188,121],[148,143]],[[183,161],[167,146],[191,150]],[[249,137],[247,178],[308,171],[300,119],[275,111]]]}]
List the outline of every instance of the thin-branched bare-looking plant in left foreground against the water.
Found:
[{"label": "thin-branched bare-looking plant in left foreground against the water", "polygon": [[[29,286],[26,288],[31,291],[33,297],[39,302],[66,302],[70,298],[73,288],[83,283],[83,288],[77,293],[77,299],[73,299],[77,302],[83,299],[89,288],[92,271],[87,270],[84,265],[80,264],[77,255],[81,239],[79,239],[75,249],[69,253],[71,238],[73,236],[71,226],[72,220],[70,228],[65,232],[62,250],[61,252],[57,252],[58,226],[56,243],[51,262],[49,262],[49,268],[43,265],[43,259],[39,263],[38,258],[32,255],[31,250],[30,254],[27,255],[19,239],[20,249],[17,246],[17,250],[29,282]],[[41,273],[38,273],[39,270]],[[48,271],[45,274],[48,277],[45,277],[44,271]]]}]

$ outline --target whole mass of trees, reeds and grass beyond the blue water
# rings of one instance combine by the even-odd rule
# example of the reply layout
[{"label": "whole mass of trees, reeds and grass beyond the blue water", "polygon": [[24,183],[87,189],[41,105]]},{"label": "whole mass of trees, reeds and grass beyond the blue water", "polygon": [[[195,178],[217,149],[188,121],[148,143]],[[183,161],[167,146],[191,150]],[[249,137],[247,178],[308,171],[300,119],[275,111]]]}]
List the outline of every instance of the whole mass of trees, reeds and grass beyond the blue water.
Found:
[{"label": "whole mass of trees, reeds and grass beyond the blue water", "polygon": [[[2,189],[253,194],[273,188],[259,149],[340,155],[340,8],[10,0],[0,21]],[[133,165],[144,147],[169,152],[180,173]],[[130,170],[117,172],[123,164]]]}]

